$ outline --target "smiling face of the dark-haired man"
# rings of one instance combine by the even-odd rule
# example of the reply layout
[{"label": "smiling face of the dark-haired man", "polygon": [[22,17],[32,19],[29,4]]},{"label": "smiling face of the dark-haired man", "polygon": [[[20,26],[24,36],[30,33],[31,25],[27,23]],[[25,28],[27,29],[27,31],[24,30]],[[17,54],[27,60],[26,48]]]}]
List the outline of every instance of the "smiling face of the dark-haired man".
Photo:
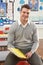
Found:
[{"label": "smiling face of the dark-haired man", "polygon": [[28,21],[29,12],[30,12],[30,9],[22,8],[22,10],[21,10],[21,12],[20,12],[20,18],[21,18],[23,21]]}]

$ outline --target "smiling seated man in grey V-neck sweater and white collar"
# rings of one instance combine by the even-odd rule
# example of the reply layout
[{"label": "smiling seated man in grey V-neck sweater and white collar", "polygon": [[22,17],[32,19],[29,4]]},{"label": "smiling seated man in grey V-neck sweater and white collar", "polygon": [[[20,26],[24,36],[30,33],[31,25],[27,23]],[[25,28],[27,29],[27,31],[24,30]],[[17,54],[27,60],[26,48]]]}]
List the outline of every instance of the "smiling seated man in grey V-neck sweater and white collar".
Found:
[{"label": "smiling seated man in grey V-neck sweater and white collar", "polygon": [[[21,7],[20,19],[14,22],[9,30],[8,47],[20,49],[27,56],[31,65],[42,65],[41,59],[35,53],[39,46],[37,28],[28,19],[29,13],[29,5],[24,4]],[[5,65],[16,65],[20,60],[13,53],[10,53],[6,58]]]}]

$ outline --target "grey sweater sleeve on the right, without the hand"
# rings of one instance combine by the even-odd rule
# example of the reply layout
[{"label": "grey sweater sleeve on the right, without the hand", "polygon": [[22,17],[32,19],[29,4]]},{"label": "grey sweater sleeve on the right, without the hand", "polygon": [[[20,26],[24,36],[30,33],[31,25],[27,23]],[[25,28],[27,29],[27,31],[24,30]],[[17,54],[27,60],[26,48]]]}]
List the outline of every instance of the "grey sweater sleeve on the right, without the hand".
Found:
[{"label": "grey sweater sleeve on the right, without the hand", "polygon": [[34,53],[39,47],[39,38],[38,38],[38,30],[37,27],[34,26],[34,31],[33,31],[33,46],[31,49],[31,52]]}]

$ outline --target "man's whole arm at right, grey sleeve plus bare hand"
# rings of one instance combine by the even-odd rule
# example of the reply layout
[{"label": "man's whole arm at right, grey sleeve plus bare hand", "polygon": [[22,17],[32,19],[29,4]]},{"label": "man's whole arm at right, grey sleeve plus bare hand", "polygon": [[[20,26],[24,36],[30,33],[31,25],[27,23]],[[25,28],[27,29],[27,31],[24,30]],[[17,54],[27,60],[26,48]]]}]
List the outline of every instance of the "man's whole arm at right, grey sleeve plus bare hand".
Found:
[{"label": "man's whole arm at right, grey sleeve plus bare hand", "polygon": [[36,26],[34,26],[32,38],[33,38],[33,46],[31,48],[31,51],[26,53],[27,58],[30,58],[32,54],[36,52],[39,46],[38,31]]}]

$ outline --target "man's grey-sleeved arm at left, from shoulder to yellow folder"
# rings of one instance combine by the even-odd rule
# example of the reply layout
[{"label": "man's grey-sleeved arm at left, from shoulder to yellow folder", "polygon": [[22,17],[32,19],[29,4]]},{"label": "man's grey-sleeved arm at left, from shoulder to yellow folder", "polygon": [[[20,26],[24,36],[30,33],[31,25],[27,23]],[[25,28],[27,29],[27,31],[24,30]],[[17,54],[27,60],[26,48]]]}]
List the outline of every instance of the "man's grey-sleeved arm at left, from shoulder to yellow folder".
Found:
[{"label": "man's grey-sleeved arm at left, from shoulder to yellow folder", "polygon": [[9,30],[9,33],[8,33],[8,48],[14,47],[13,42],[14,42],[16,27],[17,27],[16,22],[14,22],[10,27],[10,30]]}]

